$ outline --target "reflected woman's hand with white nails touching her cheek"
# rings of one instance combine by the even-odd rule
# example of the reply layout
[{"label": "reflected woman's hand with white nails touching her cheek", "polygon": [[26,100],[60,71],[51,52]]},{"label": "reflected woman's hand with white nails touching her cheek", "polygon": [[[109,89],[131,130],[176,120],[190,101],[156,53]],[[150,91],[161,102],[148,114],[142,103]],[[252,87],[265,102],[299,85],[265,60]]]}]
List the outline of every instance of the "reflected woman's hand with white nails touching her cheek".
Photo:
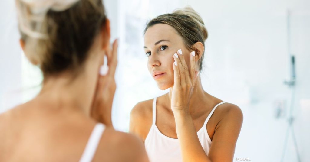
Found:
[{"label": "reflected woman's hand with white nails touching her cheek", "polygon": [[189,102],[193,95],[193,88],[196,82],[196,65],[195,52],[189,54],[190,68],[188,68],[182,51],[178,50],[177,54],[173,56],[175,62],[173,63],[174,70],[174,85],[171,96],[172,112],[186,112],[189,111]]}]

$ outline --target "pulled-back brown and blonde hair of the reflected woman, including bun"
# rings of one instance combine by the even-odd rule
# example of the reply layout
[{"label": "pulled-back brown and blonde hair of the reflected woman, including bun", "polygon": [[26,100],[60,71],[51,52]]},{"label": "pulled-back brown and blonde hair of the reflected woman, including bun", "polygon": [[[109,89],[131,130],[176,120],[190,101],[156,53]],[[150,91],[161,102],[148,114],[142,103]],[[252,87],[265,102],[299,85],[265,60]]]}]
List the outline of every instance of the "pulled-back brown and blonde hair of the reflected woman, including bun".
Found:
[{"label": "pulled-back brown and blonde hair of the reflected woman, including bun", "polygon": [[[205,41],[208,38],[208,32],[202,21],[201,16],[193,10],[192,7],[184,7],[177,9],[169,14],[159,15],[150,20],[144,29],[144,34],[147,29],[155,24],[167,24],[172,26],[177,33],[183,38],[184,44],[188,50],[195,50],[193,45],[196,42],[201,42],[205,46]],[[199,71],[202,70],[204,52],[199,61]]]}]

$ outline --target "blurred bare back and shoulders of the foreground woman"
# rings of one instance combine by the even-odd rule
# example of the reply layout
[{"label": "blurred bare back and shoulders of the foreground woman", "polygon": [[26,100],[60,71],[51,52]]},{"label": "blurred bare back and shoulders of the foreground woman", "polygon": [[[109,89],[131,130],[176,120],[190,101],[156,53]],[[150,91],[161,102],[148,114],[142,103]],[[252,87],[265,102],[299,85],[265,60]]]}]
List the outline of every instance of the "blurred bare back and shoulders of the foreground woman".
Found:
[{"label": "blurred bare back and shoulders of the foreground woman", "polygon": [[[78,161],[95,125],[74,109],[30,101],[0,114],[0,161]],[[107,127],[93,161],[146,161],[143,147],[135,136]]]}]

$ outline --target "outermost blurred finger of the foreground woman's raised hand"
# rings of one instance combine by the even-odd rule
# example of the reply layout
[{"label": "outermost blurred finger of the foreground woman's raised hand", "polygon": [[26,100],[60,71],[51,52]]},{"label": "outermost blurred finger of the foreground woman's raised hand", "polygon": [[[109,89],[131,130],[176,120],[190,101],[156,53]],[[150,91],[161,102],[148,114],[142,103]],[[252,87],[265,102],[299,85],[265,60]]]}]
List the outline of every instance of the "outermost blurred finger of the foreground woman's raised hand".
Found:
[{"label": "outermost blurred finger of the foreground woman's raised hand", "polygon": [[109,51],[110,57],[108,58],[108,67],[109,67],[108,75],[113,78],[115,76],[115,71],[117,67],[117,47],[118,43],[116,39],[113,42],[112,50]]}]

